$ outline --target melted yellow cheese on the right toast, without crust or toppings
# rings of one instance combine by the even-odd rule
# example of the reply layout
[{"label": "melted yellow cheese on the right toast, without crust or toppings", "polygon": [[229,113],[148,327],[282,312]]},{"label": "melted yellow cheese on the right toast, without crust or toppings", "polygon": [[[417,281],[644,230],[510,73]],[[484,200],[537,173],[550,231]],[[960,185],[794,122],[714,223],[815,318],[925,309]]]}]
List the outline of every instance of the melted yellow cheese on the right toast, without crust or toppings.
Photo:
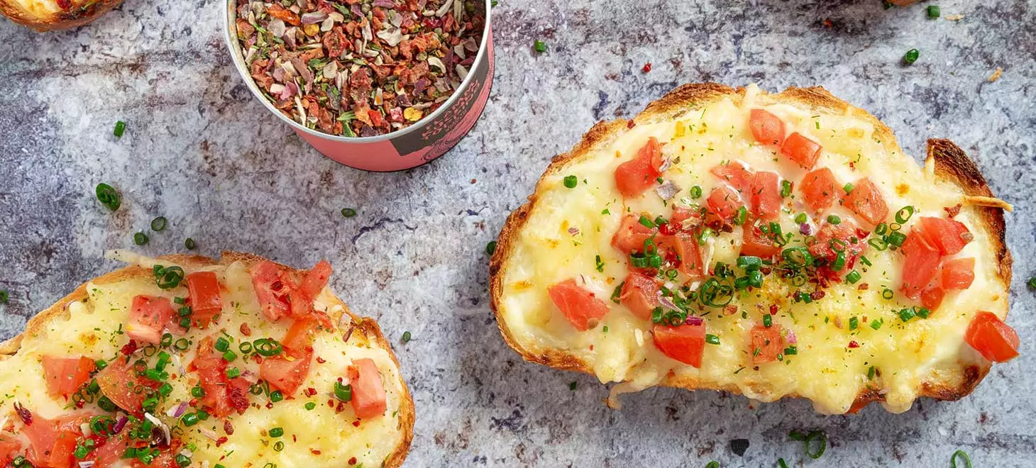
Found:
[{"label": "melted yellow cheese on the right toast, without crust or toppings", "polygon": [[[520,347],[533,353],[556,349],[575,355],[601,382],[625,381],[628,383],[622,388],[626,389],[656,385],[667,378],[670,384],[681,386],[737,388],[749,398],[768,402],[785,396],[804,397],[824,413],[844,413],[858,393],[868,388],[884,394],[889,411],[902,412],[910,409],[922,382],[932,381],[937,375],[959,376],[962,363],[981,361],[978,353],[965,344],[965,330],[980,310],[1003,318],[1007,313],[1007,291],[998,277],[996,243],[981,227],[978,212],[969,206],[955,218],[969,227],[975,239],[957,257],[976,259],[975,282],[967,290],[948,291],[943,304],[928,319],[903,323],[898,318],[895,311],[917,304],[898,292],[902,255],[872,247],[864,255],[873,266],[867,268],[859,262],[855,266],[862,274],[861,281],[857,285],[833,285],[822,300],[794,302],[787,297],[792,287],[768,276],[764,288],[731,302],[747,312],[746,318],[740,312],[723,316],[716,311],[707,316],[708,332],[719,337],[720,344],[706,345],[701,369],[662,355],[652,343],[650,321],[608,300],[628,271],[627,256],[610,243],[623,216],[628,212],[668,216],[672,202],[682,198],[703,204],[719,183],[709,170],[721,162],[741,160],[753,171],[775,171],[796,182],[793,194],[801,199],[798,182],[806,171],[787,164],[775,148],[755,143],[748,127],[753,108],[780,117],[788,134],[798,131],[818,142],[824,149],[815,167],[828,167],[840,183],[870,177],[888,202],[890,220],[900,207],[913,205],[916,212],[902,227],[904,233],[920,216],[945,217],[943,207],[962,200],[955,185],[926,175],[906,155],[890,152],[889,148],[896,145],[881,141],[869,120],[847,114],[811,115],[757,94],[754,86],[743,100],[738,100],[728,96],[670,121],[637,124],[613,141],[600,144],[596,153],[571,160],[544,177],[529,216],[499,272],[502,293],[498,313]],[[649,137],[663,143],[663,155],[673,162],[663,177],[681,192],[669,206],[655,191],[624,201],[615,187],[615,168],[634,157]],[[564,185],[563,179],[569,175],[579,180],[574,188]],[[704,195],[689,200],[689,188],[694,185],[700,186]],[[798,232],[793,218],[802,211],[809,210],[801,201],[785,203],[780,214],[784,232]],[[828,213],[855,217],[837,205],[825,215]],[[578,233],[571,234],[571,228],[577,228]],[[709,264],[733,264],[741,236],[740,228],[719,235],[712,243]],[[596,268],[596,256],[604,263],[603,271]],[[547,295],[548,287],[572,277],[581,279],[585,288],[610,308],[599,326],[584,332],[577,331]],[[861,291],[857,287],[863,283],[869,288]],[[896,292],[892,299],[883,298],[885,288]],[[749,330],[774,303],[779,305],[774,322],[797,335],[798,355],[752,364]],[[859,328],[851,331],[848,321],[853,317]],[[884,321],[876,330],[869,326],[875,319]],[[857,342],[859,348],[848,348],[851,341]],[[871,367],[876,371],[873,379],[868,378]],[[949,377],[950,384],[957,382],[954,378]]]}]

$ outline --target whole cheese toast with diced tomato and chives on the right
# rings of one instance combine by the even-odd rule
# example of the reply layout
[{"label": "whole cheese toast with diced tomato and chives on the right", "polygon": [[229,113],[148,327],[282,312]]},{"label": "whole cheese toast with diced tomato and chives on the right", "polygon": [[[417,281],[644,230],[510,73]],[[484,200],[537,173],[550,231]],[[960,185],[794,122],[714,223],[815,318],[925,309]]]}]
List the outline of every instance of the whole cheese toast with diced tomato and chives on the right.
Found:
[{"label": "whole cheese toast with diced tomato and chives on the right", "polygon": [[[783,122],[776,140],[758,141],[750,125],[753,110]],[[761,126],[755,129],[762,131]],[[799,136],[800,151],[802,142],[823,148],[807,151],[815,162],[789,158],[786,145],[772,144],[792,142],[792,134]],[[661,165],[654,163],[660,175],[633,180],[632,185],[652,187],[624,196],[631,191],[630,179],[616,182],[616,177],[638,164],[651,165],[652,152],[659,152],[651,148],[653,141],[664,157]],[[729,170],[735,167],[747,167],[749,175],[738,180],[737,171]],[[830,204],[817,211],[806,206],[816,200],[803,189],[816,184],[807,183],[804,173],[823,168],[837,184],[814,188],[813,197],[821,194]],[[750,174],[762,173],[776,173],[772,180],[783,181],[769,192],[753,192]],[[737,185],[743,188],[732,188]],[[777,200],[779,210],[766,223],[753,221],[757,197],[765,192]],[[748,215],[715,220],[710,200],[715,193],[736,194],[733,199],[749,206]],[[868,199],[875,194],[884,203]],[[864,209],[871,202],[886,211]],[[594,374],[602,383],[621,382],[612,387],[610,405],[617,405],[617,393],[661,385],[725,390],[762,402],[801,397],[822,413],[855,412],[871,402],[902,412],[918,397],[956,400],[969,394],[989,371],[985,356],[1002,360],[1016,354],[1017,335],[1011,349],[1013,330],[1002,322],[1011,277],[1004,209],[1010,205],[992,197],[975,164],[951,142],[929,140],[924,167],[919,167],[898,147],[890,128],[823,88],[768,94],[754,85],[685,85],[632,120],[599,122],[571,151],[554,157],[528,203],[511,214],[500,232],[490,265],[492,308],[505,341],[524,359]],[[684,210],[682,218],[688,211],[701,214],[677,226],[696,236],[685,238],[690,242],[680,253],[686,257],[666,250],[673,240],[664,240],[658,224],[675,220],[665,218],[677,216],[678,210]],[[800,226],[804,215],[809,221]],[[908,220],[897,220],[899,215]],[[926,217],[962,227],[955,239],[966,245],[941,254],[930,241],[918,241],[925,231],[917,226]],[[814,253],[818,229],[852,226],[857,231],[844,242],[829,240],[831,248],[814,254],[823,260],[812,259],[810,268],[825,277],[778,253],[762,256],[761,270],[754,268],[767,274],[749,284],[756,273],[748,265],[758,258],[739,260],[747,250],[744,234],[755,226],[755,235],[774,237],[773,223],[780,225],[772,229],[783,237],[781,242],[788,242],[780,248],[800,245]],[[702,235],[709,226],[714,229]],[[634,250],[632,256],[616,247],[620,231],[649,227],[653,234],[645,232],[633,244],[639,248],[641,240],[651,239],[653,246]],[[905,246],[889,246],[889,241],[903,240],[898,234],[889,237],[893,232],[905,235]],[[776,237],[767,242],[777,243]],[[648,251],[664,252],[661,266],[648,265]],[[848,264],[838,259],[842,251],[850,254]],[[904,271],[906,253],[912,265]],[[692,254],[700,264],[677,267],[688,266]],[[919,258],[928,262],[924,268],[915,265]],[[974,280],[966,289],[940,290],[940,304],[927,292],[941,288],[940,282],[953,283],[947,265],[957,258],[966,264],[974,259]],[[654,282],[660,290],[657,298],[628,300],[638,297],[623,289],[634,277],[631,270]],[[919,274],[931,284],[904,285],[919,281]],[[710,279],[719,282],[707,288]],[[738,285],[725,303],[725,296],[717,298],[717,284]],[[926,295],[912,298],[922,287]],[[673,300],[678,295],[680,300]],[[663,296],[668,300],[658,299]],[[702,303],[706,297],[710,304]],[[929,310],[922,300],[934,305]],[[996,325],[978,325],[978,316]],[[686,323],[668,323],[672,317],[686,318]],[[687,326],[698,328],[692,333]],[[670,345],[672,334],[683,331],[682,341]],[[976,351],[971,346],[975,337],[992,337],[1006,354]],[[698,354],[688,356],[691,348]]]}]

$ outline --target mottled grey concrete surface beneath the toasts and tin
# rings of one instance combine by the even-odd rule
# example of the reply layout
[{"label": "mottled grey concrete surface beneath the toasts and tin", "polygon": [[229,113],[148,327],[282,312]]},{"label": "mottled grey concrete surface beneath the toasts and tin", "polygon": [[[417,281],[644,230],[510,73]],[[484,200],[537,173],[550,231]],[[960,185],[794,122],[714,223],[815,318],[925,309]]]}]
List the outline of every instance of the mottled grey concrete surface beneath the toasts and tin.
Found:
[{"label": "mottled grey concrete surface beneath the toasts and tin", "polygon": [[[394,174],[333,163],[266,114],[227,58],[218,0],[127,0],[50,34],[0,21],[0,289],[11,294],[0,338],[118,267],[103,251],[132,247],[163,214],[170,226],[146,254],[182,251],[191,236],[209,255],[330,260],[334,289],[397,343],[418,407],[408,466],[945,467],[958,448],[976,466],[1036,466],[1036,293],[1025,286],[1036,269],[1036,1],[939,3],[963,19],[880,0],[500,0],[481,121],[442,158]],[[533,52],[537,38],[547,53]],[[900,65],[912,48],[921,58]],[[594,378],[520,360],[489,311],[486,242],[596,120],[700,81],[824,85],[883,118],[918,159],[928,137],[956,141],[1017,208],[1010,323],[1023,356],[961,402],[856,417],[674,389],[611,411]],[[102,181],[123,193],[114,214],[92,196]],[[343,207],[359,214],[343,218]],[[413,341],[398,344],[404,330]],[[797,429],[827,432],[823,459],[804,463],[786,437]],[[738,456],[730,441],[742,438]]]}]

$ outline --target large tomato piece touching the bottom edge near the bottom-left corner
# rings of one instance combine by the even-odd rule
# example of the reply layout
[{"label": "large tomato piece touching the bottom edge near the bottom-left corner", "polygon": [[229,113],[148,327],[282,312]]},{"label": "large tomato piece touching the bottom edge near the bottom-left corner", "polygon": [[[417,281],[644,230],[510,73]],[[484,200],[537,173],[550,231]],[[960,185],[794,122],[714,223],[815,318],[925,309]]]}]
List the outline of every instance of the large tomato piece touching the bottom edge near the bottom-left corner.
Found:
[{"label": "large tomato piece touching the bottom edge near the bottom-left corner", "polygon": [[33,414],[32,423],[26,425],[22,430],[29,438],[30,446],[26,454],[29,461],[34,466],[73,467],[73,451],[76,449],[76,440],[82,435],[80,425],[88,420],[89,416],[85,415],[47,419],[38,414]]}]

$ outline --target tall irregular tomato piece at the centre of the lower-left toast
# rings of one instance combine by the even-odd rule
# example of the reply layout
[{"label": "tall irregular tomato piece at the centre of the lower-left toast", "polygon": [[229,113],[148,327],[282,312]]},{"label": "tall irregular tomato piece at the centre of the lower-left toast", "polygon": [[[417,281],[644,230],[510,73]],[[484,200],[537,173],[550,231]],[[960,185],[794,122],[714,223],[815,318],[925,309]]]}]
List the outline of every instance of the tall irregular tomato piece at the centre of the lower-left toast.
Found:
[{"label": "tall irregular tomato piece at the centre of the lower-left toast", "polygon": [[223,353],[212,347],[211,337],[205,337],[198,343],[198,352],[191,361],[191,368],[198,372],[201,388],[205,391],[200,402],[210,413],[223,417],[234,411],[243,413],[248,409],[248,391],[252,385],[243,377],[227,377],[227,361],[223,359]]}]

